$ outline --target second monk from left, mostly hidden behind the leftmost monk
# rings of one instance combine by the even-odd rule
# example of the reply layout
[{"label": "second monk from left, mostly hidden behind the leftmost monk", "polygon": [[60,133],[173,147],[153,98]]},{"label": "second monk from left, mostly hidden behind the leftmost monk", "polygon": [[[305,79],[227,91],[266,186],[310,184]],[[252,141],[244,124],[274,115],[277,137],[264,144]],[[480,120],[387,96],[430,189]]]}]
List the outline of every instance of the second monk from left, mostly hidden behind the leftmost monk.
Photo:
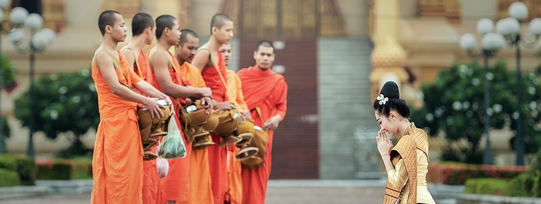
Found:
[{"label": "second monk from left, mostly hidden behind the leftmost monk", "polygon": [[[131,41],[124,45],[120,51],[126,57],[128,64],[133,65],[137,76],[152,84],[150,64],[147,55],[143,52],[143,47],[150,45],[156,36],[156,24],[152,16],[147,13],[137,13],[131,20],[131,33],[133,35]],[[157,145],[150,147],[150,151],[157,154]],[[143,203],[167,204],[165,195],[161,191],[156,160],[143,161],[143,172]]]}]

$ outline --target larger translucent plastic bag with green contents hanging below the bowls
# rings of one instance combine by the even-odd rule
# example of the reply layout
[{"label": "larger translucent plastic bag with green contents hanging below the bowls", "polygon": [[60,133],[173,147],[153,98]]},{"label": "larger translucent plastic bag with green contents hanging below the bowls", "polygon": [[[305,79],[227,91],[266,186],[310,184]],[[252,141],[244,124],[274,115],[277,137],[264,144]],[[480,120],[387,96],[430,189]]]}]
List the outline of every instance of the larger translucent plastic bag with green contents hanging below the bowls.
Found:
[{"label": "larger translucent plastic bag with green contents hanging below the bowls", "polygon": [[186,157],[186,146],[182,140],[179,127],[176,125],[176,117],[171,117],[169,121],[169,130],[165,138],[162,139],[158,155],[164,159]]}]

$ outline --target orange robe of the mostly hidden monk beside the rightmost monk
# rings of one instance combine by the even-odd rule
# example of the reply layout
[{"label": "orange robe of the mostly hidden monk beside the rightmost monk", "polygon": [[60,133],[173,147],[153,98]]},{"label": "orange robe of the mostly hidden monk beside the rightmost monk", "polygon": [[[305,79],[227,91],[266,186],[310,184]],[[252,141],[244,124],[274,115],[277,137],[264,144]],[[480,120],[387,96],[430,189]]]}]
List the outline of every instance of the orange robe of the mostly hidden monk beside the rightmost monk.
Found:
[{"label": "orange robe of the mostly hidden monk beside the rightmost monk", "polygon": [[[239,111],[248,109],[242,96],[242,85],[239,76],[233,70],[227,70],[226,78],[229,101],[235,103]],[[240,148],[235,145],[227,148],[228,201],[233,204],[242,203],[242,165],[240,161],[235,160],[235,155],[239,150]]]}]

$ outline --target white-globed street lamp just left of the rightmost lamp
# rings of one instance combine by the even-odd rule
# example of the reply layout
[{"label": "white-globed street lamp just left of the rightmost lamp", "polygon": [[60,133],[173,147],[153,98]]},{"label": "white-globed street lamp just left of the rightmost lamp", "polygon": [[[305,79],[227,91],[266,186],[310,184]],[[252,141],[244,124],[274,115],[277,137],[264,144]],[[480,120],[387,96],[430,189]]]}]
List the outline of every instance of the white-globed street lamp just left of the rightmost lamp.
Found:
[{"label": "white-globed street lamp just left of the rightmost lamp", "polygon": [[476,37],[472,33],[465,33],[460,36],[458,41],[461,49],[465,50],[469,57],[476,59],[482,56],[485,63],[485,77],[484,77],[484,102],[485,102],[485,115],[484,115],[484,132],[486,137],[486,147],[483,153],[483,164],[492,164],[492,146],[490,144],[489,130],[490,130],[490,89],[489,81],[492,77],[489,77],[489,58],[494,57],[498,50],[502,49],[505,45],[505,38],[499,34],[492,32],[494,30],[494,23],[491,19],[483,18],[477,22],[476,30],[481,38],[481,50],[474,50],[477,45]]}]

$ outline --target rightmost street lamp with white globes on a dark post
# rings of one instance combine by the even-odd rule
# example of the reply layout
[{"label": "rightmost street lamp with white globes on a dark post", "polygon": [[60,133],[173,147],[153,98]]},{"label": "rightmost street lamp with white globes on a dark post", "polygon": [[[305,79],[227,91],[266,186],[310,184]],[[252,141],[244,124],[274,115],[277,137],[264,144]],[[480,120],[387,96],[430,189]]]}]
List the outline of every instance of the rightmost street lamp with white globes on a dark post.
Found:
[{"label": "rightmost street lamp with white globes on a dark post", "polygon": [[[531,35],[520,33],[520,22],[528,17],[528,8],[522,2],[514,2],[507,9],[509,16],[496,23],[496,31],[505,36],[508,45],[517,48],[517,166],[524,166],[524,136],[522,132],[522,74],[520,73],[520,45],[532,48],[541,35],[541,18],[530,21]],[[514,115],[514,114],[513,114]]]}]

